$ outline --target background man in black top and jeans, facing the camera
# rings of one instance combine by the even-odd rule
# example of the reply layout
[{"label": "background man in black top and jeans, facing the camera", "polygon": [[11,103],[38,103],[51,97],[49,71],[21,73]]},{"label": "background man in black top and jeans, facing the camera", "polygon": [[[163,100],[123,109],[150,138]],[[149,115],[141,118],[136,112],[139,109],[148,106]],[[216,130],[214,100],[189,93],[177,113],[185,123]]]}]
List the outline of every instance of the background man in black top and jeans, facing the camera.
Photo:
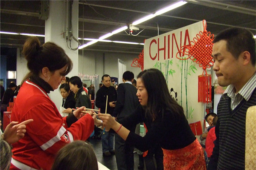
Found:
[{"label": "background man in black top and jeans, facing the camera", "polygon": [[[108,96],[108,104],[107,104],[107,113],[113,113],[115,108],[114,102],[116,102],[116,89],[113,86],[110,86],[111,79],[108,74],[102,76],[103,86],[99,88],[96,93],[95,105],[97,108],[100,108],[101,113],[105,113],[106,110],[106,101]],[[114,144],[114,133],[112,131],[104,132],[102,134],[102,154],[103,156],[111,156],[115,154],[113,149]]]}]

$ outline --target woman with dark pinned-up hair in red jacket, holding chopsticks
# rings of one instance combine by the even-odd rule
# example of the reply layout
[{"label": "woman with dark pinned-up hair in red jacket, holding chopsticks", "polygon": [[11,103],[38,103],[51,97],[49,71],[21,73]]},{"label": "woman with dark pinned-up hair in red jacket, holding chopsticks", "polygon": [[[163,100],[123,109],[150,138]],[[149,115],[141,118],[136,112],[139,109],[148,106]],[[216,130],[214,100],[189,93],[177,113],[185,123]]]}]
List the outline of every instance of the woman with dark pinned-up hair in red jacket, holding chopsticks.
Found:
[{"label": "woman with dark pinned-up hair in red jacket, holding chopsticks", "polygon": [[12,145],[10,170],[50,170],[61,147],[74,140],[85,141],[90,136],[95,116],[91,116],[92,112],[82,116],[84,107],[81,107],[63,119],[47,95],[58,88],[73,67],[61,47],[52,42],[40,45],[37,37],[30,37],[24,44],[23,54],[29,73],[23,79],[11,119],[34,121],[26,126],[23,139]]}]

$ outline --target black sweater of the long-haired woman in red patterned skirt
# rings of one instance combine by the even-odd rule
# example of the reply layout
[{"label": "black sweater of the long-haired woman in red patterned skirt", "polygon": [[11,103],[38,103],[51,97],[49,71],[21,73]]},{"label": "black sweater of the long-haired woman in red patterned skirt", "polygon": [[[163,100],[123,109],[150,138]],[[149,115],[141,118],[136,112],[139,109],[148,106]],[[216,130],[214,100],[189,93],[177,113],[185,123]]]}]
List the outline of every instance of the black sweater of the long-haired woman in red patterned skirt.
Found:
[{"label": "black sweater of the long-haired woman in red patterned skirt", "polygon": [[148,150],[156,143],[167,150],[181,149],[196,139],[183,113],[174,115],[172,111],[166,109],[163,118],[157,118],[151,123],[145,119],[145,112],[139,105],[134,113],[123,119],[121,123],[124,127],[129,127],[139,122],[145,123],[149,129],[148,132],[144,137],[130,132],[126,142],[133,144],[141,151]]}]

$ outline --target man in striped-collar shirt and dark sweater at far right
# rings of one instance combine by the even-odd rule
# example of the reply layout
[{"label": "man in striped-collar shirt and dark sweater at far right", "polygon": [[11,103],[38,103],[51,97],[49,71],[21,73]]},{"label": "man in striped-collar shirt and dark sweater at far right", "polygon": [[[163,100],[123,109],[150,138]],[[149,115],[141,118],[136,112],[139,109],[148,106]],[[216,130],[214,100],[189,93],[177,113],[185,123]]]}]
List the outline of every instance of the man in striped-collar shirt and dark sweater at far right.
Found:
[{"label": "man in striped-collar shirt and dark sweater at far right", "polygon": [[244,169],[246,111],[256,105],[256,42],[244,28],[230,28],[213,40],[213,70],[228,86],[218,103],[215,147],[209,170]]}]

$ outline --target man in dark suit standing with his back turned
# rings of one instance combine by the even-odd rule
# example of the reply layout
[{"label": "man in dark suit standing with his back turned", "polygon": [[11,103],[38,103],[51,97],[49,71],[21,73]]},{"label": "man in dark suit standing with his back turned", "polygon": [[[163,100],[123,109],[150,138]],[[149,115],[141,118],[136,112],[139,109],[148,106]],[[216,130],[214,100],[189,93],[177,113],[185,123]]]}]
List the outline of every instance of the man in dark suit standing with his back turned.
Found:
[{"label": "man in dark suit standing with his back turned", "polygon": [[[122,121],[126,116],[133,113],[139,105],[138,97],[136,96],[137,89],[132,85],[134,74],[131,71],[125,71],[122,76],[122,81],[117,88],[116,108],[113,111],[113,117],[117,121]],[[131,125],[129,130],[135,131],[136,125]],[[134,169],[134,147],[126,143],[118,134],[115,134],[115,152],[116,164],[118,170],[133,170]]]}]

